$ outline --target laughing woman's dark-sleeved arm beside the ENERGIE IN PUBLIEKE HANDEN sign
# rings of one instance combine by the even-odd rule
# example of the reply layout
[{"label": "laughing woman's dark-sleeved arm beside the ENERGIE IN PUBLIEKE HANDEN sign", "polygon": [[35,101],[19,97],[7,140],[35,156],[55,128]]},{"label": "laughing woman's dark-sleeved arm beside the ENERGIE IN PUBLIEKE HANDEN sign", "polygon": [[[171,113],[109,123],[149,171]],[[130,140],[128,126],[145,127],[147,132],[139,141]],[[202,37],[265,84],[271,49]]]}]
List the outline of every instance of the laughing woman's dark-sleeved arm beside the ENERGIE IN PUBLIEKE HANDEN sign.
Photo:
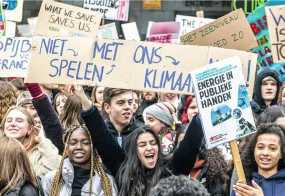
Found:
[{"label": "laughing woman's dark-sleeved arm beside the ENERGIE IN PUBLIEKE HANDEN sign", "polygon": [[184,139],[179,144],[179,148],[173,154],[171,166],[175,174],[190,174],[196,163],[202,138],[201,122],[198,115],[196,115],[187,129]]}]

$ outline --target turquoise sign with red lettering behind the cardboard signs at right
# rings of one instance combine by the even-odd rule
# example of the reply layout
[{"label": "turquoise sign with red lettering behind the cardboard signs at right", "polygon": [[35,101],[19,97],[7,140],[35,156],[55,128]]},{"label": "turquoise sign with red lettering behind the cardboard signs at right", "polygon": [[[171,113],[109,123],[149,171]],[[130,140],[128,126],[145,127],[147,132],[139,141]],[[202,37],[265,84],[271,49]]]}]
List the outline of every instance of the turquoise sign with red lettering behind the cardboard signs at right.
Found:
[{"label": "turquoise sign with red lettering behind the cardboard signs at right", "polygon": [[252,28],[258,46],[251,51],[258,54],[256,65],[257,74],[265,68],[275,70],[281,81],[285,81],[284,63],[273,63],[272,51],[269,42],[269,32],[266,20],[265,7],[285,4],[285,0],[269,0],[259,5],[248,17],[248,22]]}]

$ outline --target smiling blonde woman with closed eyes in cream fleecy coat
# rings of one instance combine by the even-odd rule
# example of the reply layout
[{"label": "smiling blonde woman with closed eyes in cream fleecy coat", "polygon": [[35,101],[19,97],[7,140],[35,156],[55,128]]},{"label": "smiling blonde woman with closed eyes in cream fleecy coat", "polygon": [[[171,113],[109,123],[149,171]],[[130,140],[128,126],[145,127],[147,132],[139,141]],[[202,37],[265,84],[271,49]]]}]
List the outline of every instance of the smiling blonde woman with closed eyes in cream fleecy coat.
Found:
[{"label": "smiling blonde woman with closed eyes in cream fleecy coat", "polygon": [[23,144],[33,170],[40,178],[60,166],[58,149],[45,137],[41,127],[34,126],[32,115],[24,107],[11,107],[7,111],[0,133]]}]

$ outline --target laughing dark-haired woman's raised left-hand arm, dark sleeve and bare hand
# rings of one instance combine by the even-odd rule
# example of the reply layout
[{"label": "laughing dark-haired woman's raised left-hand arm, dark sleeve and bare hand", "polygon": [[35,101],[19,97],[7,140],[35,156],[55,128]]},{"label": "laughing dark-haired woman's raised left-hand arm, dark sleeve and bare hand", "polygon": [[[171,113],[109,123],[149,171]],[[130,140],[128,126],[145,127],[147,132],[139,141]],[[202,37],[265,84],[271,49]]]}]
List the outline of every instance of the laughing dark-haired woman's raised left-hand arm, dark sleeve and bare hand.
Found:
[{"label": "laughing dark-haired woman's raised left-hand arm, dark sleeve and bare hand", "polygon": [[104,165],[116,175],[125,159],[125,152],[116,141],[116,138],[108,130],[99,110],[92,105],[91,100],[85,95],[81,86],[73,85],[72,91],[81,99],[82,117],[86,127],[90,131],[93,147],[99,153]]}]

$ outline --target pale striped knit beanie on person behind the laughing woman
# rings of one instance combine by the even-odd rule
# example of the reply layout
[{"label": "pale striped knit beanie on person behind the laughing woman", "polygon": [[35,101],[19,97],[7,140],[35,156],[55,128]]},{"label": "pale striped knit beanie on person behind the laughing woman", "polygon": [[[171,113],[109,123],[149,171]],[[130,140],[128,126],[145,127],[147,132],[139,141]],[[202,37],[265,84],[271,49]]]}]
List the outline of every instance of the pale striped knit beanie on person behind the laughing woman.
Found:
[{"label": "pale striped knit beanie on person behind the laughing woman", "polygon": [[148,106],[144,113],[151,115],[162,123],[172,127],[174,124],[172,113],[176,113],[176,107],[170,102],[156,103]]}]

